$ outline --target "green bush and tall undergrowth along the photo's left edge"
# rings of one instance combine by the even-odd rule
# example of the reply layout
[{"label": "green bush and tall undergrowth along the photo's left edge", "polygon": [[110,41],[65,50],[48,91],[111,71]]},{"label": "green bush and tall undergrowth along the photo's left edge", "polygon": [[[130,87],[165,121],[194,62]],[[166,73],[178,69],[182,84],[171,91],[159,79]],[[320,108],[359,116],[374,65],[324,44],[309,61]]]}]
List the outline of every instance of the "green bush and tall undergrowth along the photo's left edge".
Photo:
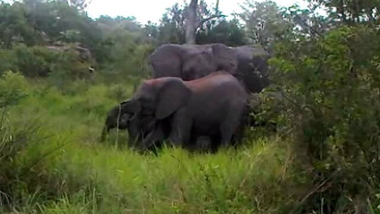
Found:
[{"label": "green bush and tall undergrowth along the photo's left edge", "polygon": [[27,81],[18,73],[6,72],[0,78],[0,212],[16,207],[28,210],[41,189],[41,195],[57,195],[49,186],[48,177],[52,176],[44,173],[41,162],[61,146],[41,147],[49,141],[40,120],[18,115],[15,122],[9,115],[11,107],[26,99],[28,91]]}]

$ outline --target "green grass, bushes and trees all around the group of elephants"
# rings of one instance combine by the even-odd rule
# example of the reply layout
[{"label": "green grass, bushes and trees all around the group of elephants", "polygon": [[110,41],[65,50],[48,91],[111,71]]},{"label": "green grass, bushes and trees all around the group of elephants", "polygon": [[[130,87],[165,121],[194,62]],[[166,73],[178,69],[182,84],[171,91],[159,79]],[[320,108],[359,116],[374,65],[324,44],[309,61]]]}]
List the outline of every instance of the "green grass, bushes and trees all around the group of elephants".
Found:
[{"label": "green grass, bushes and trees all around the group of elephants", "polygon": [[[0,213],[380,213],[379,0],[181,1],[147,24],[88,3],[0,0]],[[268,51],[238,146],[100,140],[168,43]]]}]

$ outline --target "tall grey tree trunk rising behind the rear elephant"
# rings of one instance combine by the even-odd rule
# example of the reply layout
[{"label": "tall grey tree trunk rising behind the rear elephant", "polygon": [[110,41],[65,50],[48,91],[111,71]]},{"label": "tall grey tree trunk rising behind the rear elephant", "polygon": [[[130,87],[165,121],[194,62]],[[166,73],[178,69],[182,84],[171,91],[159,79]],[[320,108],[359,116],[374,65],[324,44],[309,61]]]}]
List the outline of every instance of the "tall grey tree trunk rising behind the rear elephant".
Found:
[{"label": "tall grey tree trunk rising behind the rear elephant", "polygon": [[186,7],[185,11],[185,41],[186,44],[195,44],[196,35],[196,23],[198,17],[196,14],[196,8],[198,6],[198,0],[191,0],[190,5]]}]

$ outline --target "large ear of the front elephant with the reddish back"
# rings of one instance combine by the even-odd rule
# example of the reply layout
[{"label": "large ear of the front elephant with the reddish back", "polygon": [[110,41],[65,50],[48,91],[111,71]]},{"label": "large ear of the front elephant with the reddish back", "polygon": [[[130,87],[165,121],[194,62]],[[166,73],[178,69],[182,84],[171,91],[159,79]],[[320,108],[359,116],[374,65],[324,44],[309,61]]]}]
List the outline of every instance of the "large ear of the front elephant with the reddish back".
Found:
[{"label": "large ear of the front elephant with the reddish back", "polygon": [[192,91],[179,78],[165,81],[158,93],[156,118],[161,120],[184,106],[190,99]]}]

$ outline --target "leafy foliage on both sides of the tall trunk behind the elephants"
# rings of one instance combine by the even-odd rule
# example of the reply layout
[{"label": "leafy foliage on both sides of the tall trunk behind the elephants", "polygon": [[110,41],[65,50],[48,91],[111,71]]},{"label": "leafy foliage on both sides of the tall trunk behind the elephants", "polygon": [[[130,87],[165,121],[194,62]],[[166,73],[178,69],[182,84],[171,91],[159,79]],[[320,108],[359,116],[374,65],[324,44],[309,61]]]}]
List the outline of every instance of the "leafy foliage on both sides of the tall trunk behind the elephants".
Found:
[{"label": "leafy foliage on both sides of the tall trunk behind the elephants", "polygon": [[[204,43],[224,43],[230,46],[245,45],[245,32],[243,26],[236,17],[227,21],[218,5],[210,8],[204,1],[200,1],[197,9],[197,16],[201,21],[199,29],[196,30],[196,42]],[[214,19],[211,19],[214,18]],[[148,22],[144,27],[146,35],[155,44],[165,43],[185,43],[185,6],[174,4],[166,9],[160,24]]]}]

